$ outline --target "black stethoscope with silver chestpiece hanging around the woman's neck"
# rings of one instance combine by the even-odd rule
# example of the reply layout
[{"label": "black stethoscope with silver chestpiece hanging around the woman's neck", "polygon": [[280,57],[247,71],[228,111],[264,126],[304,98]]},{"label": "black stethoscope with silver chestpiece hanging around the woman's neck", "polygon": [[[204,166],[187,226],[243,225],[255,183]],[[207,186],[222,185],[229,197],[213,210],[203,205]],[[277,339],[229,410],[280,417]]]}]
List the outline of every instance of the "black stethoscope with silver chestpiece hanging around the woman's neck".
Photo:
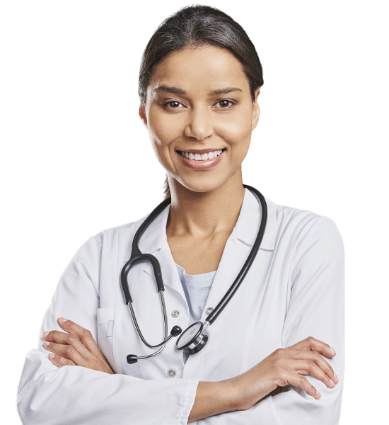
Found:
[{"label": "black stethoscope with silver chestpiece hanging around the woman's neck", "polygon": [[[207,344],[208,336],[204,334],[203,332],[205,331],[205,329],[207,329],[207,327],[211,326],[211,324],[216,320],[219,314],[223,311],[224,307],[226,307],[228,302],[230,302],[231,298],[238,290],[240,283],[242,283],[243,279],[245,278],[246,274],[248,273],[250,269],[252,261],[254,261],[255,256],[257,255],[258,249],[260,249],[260,244],[262,242],[262,238],[265,233],[265,227],[267,222],[267,205],[266,205],[265,198],[262,195],[262,193],[260,193],[260,191],[257,191],[256,188],[253,188],[252,186],[248,186],[247,184],[244,184],[243,186],[245,188],[248,188],[251,191],[251,193],[255,196],[255,198],[257,198],[257,201],[258,203],[260,203],[262,208],[261,224],[260,224],[260,229],[258,230],[257,239],[255,239],[254,245],[252,246],[248,259],[245,261],[243,267],[241,268],[233,284],[226,292],[226,295],[223,296],[219,304],[216,305],[215,309],[211,312],[211,314],[207,316],[207,319],[204,320],[204,323],[195,322],[191,324],[190,327],[187,327],[187,329],[185,329],[185,331],[183,332],[179,326],[173,326],[173,328],[170,331],[170,335],[168,336],[168,317],[166,314],[165,298],[163,297],[163,291],[165,290],[165,287],[163,285],[163,280],[162,280],[161,265],[155,256],[151,254],[142,254],[141,251],[139,250],[139,239],[141,239],[142,235],[144,234],[147,227],[149,227],[151,222],[159,214],[161,214],[161,212],[170,204],[171,198],[167,198],[166,200],[163,200],[159,205],[157,205],[156,208],[154,208],[154,210],[150,213],[149,217],[147,217],[146,220],[144,220],[142,225],[137,230],[137,233],[134,236],[134,240],[132,241],[131,258],[129,259],[129,261],[127,261],[127,263],[125,263],[124,267],[122,268],[122,273],[120,274],[120,280],[122,283],[122,289],[124,292],[125,302],[129,307],[129,311],[131,313],[134,326],[137,329],[137,332],[141,341],[149,348],[152,348],[157,351],[147,356],[136,356],[135,354],[129,354],[127,356],[127,363],[129,364],[137,363],[138,360],[143,360],[144,358],[156,356],[158,353],[161,353],[163,348],[165,348],[166,343],[168,343],[170,339],[180,334],[181,334],[180,338],[178,338],[177,342],[175,343],[175,346],[176,348],[178,348],[178,350],[183,350],[184,348],[188,348],[190,355],[198,353],[200,350],[202,350],[202,348],[204,348],[205,344]],[[156,345],[149,344],[144,338],[143,334],[141,333],[141,329],[139,328],[137,318],[135,317],[134,308],[132,307],[132,297],[129,293],[129,287],[128,287],[128,281],[127,281],[127,276],[131,268],[134,267],[135,264],[143,263],[144,261],[149,261],[149,263],[151,263],[151,266],[153,266],[158,293],[161,297],[164,336],[163,336],[163,341],[161,342],[161,344],[156,344]]]}]

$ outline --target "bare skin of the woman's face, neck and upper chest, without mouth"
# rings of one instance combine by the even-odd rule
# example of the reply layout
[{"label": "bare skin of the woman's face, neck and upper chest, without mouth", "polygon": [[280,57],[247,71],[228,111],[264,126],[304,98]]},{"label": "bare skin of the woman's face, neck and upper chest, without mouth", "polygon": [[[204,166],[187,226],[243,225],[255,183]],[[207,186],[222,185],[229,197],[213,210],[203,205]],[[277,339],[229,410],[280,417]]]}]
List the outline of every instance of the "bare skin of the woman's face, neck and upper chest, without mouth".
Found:
[{"label": "bare skin of the woman's face, neck and upper chest, without mouth", "polygon": [[[173,87],[185,93],[168,91]],[[233,91],[213,93],[223,89]],[[217,47],[168,56],[154,70],[146,99],[139,117],[172,193],[170,251],[187,273],[214,271],[243,203],[242,162],[260,106],[240,62]],[[224,149],[221,163],[207,171],[182,164],[178,151],[203,149]]]}]

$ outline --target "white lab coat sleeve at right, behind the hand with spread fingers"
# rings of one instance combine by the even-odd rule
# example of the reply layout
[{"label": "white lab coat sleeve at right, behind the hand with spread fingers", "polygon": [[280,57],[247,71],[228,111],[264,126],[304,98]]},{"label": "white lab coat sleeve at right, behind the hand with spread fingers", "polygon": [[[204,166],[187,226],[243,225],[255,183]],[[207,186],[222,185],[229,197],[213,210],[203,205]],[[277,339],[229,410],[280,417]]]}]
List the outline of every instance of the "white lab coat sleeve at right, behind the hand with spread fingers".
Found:
[{"label": "white lab coat sleeve at right, behind the hand with spread fingers", "polygon": [[298,239],[291,263],[291,296],[282,346],[308,336],[330,344],[337,354],[326,360],[339,383],[331,389],[307,376],[320,392],[320,399],[298,387],[284,387],[279,395],[264,400],[258,414],[260,424],[335,425],[339,424],[344,380],[344,245],[335,222],[328,217],[308,222]]}]

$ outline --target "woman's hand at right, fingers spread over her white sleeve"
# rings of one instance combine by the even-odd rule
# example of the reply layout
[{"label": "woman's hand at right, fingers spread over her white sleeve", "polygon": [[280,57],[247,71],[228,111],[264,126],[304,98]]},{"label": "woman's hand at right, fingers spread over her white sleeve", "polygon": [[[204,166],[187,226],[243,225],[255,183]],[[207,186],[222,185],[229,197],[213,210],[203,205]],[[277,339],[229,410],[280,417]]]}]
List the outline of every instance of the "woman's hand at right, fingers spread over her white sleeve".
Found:
[{"label": "woman's hand at right, fingers spread over her white sleeve", "polygon": [[249,409],[271,392],[277,394],[279,387],[286,385],[299,387],[319,399],[320,393],[304,375],[318,378],[329,388],[339,382],[334,370],[320,354],[332,358],[335,351],[313,337],[274,351],[247,372],[229,380],[235,394],[233,409]]}]

